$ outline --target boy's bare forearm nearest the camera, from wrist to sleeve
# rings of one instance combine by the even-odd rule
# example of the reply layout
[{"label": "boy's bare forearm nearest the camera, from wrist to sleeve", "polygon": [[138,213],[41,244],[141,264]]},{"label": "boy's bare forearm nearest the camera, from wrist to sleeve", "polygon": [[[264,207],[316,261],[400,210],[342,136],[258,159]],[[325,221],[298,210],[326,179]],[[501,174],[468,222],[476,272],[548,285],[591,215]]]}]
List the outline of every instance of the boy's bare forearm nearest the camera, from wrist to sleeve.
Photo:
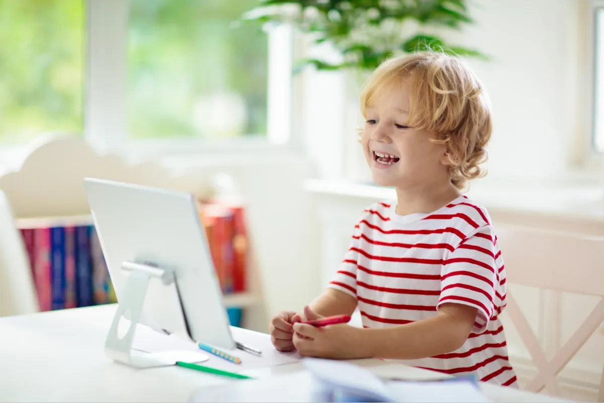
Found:
[{"label": "boy's bare forearm nearest the camera, from wrist to sleeve", "polygon": [[435,317],[384,329],[359,329],[367,348],[364,355],[419,359],[455,351],[467,340],[476,313],[472,306],[445,303]]}]

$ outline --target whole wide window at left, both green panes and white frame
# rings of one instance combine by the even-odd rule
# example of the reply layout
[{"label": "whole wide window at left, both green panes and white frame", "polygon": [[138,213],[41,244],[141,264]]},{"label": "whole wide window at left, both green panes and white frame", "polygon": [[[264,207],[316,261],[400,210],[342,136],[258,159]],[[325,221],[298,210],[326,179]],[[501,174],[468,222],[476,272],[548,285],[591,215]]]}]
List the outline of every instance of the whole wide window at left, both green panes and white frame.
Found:
[{"label": "whole wide window at left, both green panes and white frame", "polygon": [[287,142],[292,32],[238,22],[257,4],[0,0],[0,144],[48,131],[167,152]]}]

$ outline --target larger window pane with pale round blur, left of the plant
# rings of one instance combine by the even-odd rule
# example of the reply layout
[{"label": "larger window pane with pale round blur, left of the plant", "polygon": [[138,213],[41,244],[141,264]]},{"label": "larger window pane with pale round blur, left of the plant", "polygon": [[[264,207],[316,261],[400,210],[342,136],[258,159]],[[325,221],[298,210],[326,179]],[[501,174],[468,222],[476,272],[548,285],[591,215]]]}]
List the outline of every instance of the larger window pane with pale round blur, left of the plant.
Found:
[{"label": "larger window pane with pale round blur, left of the plant", "polygon": [[268,39],[257,0],[130,0],[128,134],[266,135]]}]

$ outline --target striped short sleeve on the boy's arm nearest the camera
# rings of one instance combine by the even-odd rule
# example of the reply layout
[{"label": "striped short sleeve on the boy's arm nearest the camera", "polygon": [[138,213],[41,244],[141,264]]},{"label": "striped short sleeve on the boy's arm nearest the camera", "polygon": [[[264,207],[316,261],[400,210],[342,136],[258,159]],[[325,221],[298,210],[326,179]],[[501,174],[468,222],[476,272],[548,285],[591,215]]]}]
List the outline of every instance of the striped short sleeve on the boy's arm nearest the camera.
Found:
[{"label": "striped short sleeve on the boy's arm nearest the camera", "polygon": [[501,303],[496,257],[500,255],[490,225],[477,228],[443,260],[440,298],[478,309],[475,333],[483,332]]}]

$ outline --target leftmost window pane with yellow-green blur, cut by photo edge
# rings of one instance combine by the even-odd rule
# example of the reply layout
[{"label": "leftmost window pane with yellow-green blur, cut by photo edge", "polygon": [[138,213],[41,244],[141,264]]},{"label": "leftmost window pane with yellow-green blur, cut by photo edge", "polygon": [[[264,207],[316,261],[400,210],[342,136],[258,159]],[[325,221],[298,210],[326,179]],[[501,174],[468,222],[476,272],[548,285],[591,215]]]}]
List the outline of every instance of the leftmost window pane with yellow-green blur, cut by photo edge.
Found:
[{"label": "leftmost window pane with yellow-green blur, cut by photo edge", "polygon": [[0,143],[82,133],[84,2],[0,0]]}]

